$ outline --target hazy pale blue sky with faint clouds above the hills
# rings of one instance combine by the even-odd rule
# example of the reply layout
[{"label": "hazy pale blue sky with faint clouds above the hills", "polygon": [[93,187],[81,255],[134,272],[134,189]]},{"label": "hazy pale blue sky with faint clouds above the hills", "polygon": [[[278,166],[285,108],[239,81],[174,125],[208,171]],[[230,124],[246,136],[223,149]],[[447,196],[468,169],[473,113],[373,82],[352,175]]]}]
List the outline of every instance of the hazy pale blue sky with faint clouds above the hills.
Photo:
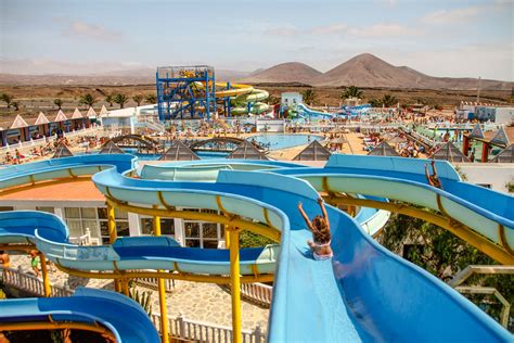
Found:
[{"label": "hazy pale blue sky with faint clouds above the hills", "polygon": [[325,72],[371,52],[434,76],[514,80],[513,12],[514,0],[1,0],[1,72]]}]

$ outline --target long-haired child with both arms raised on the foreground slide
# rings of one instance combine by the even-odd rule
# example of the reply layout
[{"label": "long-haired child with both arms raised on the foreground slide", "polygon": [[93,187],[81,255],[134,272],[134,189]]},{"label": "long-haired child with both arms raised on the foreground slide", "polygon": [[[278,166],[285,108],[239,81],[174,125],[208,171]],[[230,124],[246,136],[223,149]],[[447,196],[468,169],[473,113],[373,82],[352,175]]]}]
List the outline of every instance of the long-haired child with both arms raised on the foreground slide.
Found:
[{"label": "long-haired child with both arms raised on the foreground slide", "polygon": [[329,216],[326,215],[325,205],[321,198],[318,198],[318,204],[321,207],[321,213],[323,216],[318,215],[314,217],[314,219],[312,219],[312,221],[309,220],[309,217],[301,207],[301,202],[298,203],[298,211],[300,212],[301,217],[304,217],[304,220],[309,229],[312,231],[312,239],[314,241],[307,241],[307,244],[312,250],[312,257],[320,261],[332,258],[334,253],[330,247],[332,236],[330,232]]}]

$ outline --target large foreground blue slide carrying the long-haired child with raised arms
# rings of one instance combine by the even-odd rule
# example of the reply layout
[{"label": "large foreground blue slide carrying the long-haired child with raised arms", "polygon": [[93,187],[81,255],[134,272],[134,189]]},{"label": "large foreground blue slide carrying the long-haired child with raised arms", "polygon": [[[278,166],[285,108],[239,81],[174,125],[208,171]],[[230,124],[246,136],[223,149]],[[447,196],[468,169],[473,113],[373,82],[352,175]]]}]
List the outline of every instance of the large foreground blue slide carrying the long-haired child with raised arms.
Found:
[{"label": "large foreground blue slide carrying the long-haired child with raised arms", "polygon": [[[389,177],[407,177],[407,181],[377,176],[381,173],[387,174],[385,168],[381,170],[373,167],[373,164],[367,165],[360,161],[360,165],[352,167],[352,182],[363,174],[360,180],[368,181],[367,176],[370,176],[383,178],[382,181],[386,183],[412,183],[410,191],[422,189],[432,193],[439,192],[426,186],[422,176],[412,173],[412,168],[409,173],[409,169],[398,166],[409,165],[409,162],[386,158],[396,165],[391,169],[394,175]],[[344,175],[345,161],[336,157],[333,160],[323,168],[323,173],[332,172],[334,177],[337,174]],[[334,170],[337,168],[342,169]],[[448,180],[451,180],[451,168],[446,172],[441,166],[438,168],[441,169],[439,175],[447,187]],[[292,168],[284,169],[284,174],[295,173],[291,170]],[[297,168],[296,172],[299,170],[309,174],[306,173],[307,168]],[[319,174],[320,170],[314,172]],[[318,177],[314,172],[309,176]],[[436,341],[441,336],[449,340],[512,340],[505,330],[464,297],[424,270],[376,244],[360,229],[357,221],[334,207],[329,206],[327,209],[334,228],[332,246],[335,257],[332,263],[312,261],[305,243],[310,233],[305,229],[295,204],[303,201],[306,211],[314,214],[319,211],[316,204],[318,192],[304,180],[265,172],[221,170],[215,183],[166,182],[129,179],[114,169],[97,174],[93,180],[105,193],[128,202],[141,201],[142,198],[138,195],[151,190],[174,193],[175,189],[180,195],[166,199],[166,203],[169,201],[168,205],[192,206],[188,203],[191,199],[185,198],[185,194],[190,194],[194,200],[210,199],[206,201],[210,203],[205,205],[215,207],[213,196],[223,193],[221,202],[216,201],[215,208],[219,209],[221,204],[223,211],[243,211],[244,216],[257,217],[254,211],[259,211],[258,207],[253,206],[252,209],[246,205],[241,206],[239,200],[246,199],[248,204],[254,205],[254,202],[258,202],[260,211],[267,204],[268,215],[261,214],[260,220],[269,220],[282,233],[270,318],[270,341],[410,341],[412,338]],[[325,176],[320,175],[320,180],[322,185],[326,185]],[[355,186],[352,191],[365,193],[358,188]],[[333,185],[326,190],[334,191]],[[424,199],[428,196],[426,192],[421,195]],[[451,194],[442,195],[451,198]],[[196,204],[194,200],[193,203]],[[472,203],[461,202],[461,205],[478,213],[479,217],[503,220],[503,225],[506,225],[504,227],[512,230],[512,219],[501,217],[501,212],[494,217],[488,211],[491,206],[480,212]],[[503,205],[512,205],[512,198],[504,200]],[[271,213],[274,215],[270,215]],[[427,298],[431,302],[427,303]],[[419,326],[421,321],[427,325]],[[425,330],[426,327],[437,330]]]}]

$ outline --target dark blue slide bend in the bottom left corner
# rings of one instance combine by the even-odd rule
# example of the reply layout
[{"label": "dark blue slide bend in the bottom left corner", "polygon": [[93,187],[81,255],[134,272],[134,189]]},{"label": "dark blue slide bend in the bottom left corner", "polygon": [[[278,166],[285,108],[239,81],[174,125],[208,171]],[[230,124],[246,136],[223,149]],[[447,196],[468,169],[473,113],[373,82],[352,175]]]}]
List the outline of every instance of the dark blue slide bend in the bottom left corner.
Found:
[{"label": "dark blue slide bend in the bottom left corner", "polygon": [[67,297],[2,301],[0,322],[5,331],[67,328],[98,332],[116,342],[160,342],[138,303],[119,293],[86,288]]}]

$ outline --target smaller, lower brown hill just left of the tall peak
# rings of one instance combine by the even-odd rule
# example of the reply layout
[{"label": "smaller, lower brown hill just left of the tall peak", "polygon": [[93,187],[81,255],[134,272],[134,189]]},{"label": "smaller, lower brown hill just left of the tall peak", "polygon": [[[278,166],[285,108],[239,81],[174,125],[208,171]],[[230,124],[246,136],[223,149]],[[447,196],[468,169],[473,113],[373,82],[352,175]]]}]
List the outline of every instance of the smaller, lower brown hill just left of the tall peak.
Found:
[{"label": "smaller, lower brown hill just left of the tall peak", "polygon": [[321,72],[299,62],[282,63],[241,79],[244,82],[311,84]]}]

